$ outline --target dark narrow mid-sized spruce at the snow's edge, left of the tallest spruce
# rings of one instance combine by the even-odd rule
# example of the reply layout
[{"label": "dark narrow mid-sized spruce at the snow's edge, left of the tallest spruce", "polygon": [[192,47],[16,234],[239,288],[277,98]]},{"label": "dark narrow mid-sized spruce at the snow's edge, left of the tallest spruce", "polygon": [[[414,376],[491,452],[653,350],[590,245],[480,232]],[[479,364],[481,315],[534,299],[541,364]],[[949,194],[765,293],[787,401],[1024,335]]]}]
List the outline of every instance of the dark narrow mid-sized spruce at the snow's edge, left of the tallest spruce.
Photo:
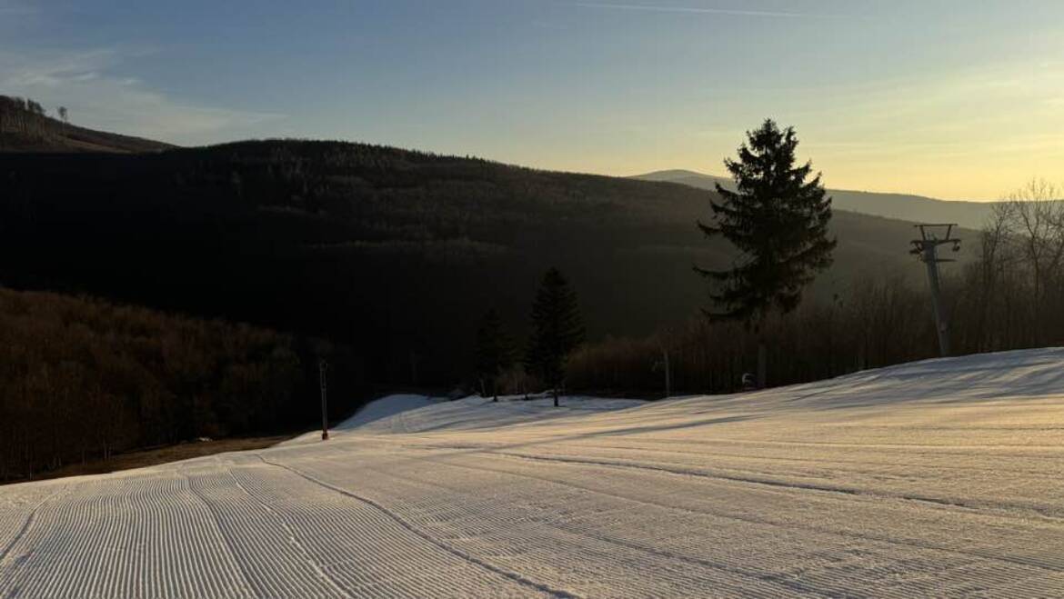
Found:
[{"label": "dark narrow mid-sized spruce at the snow's edge, left of the tallest spruce", "polygon": [[554,407],[565,380],[565,362],[584,339],[577,294],[556,268],[548,270],[532,303],[532,336],[526,363],[551,385]]}]

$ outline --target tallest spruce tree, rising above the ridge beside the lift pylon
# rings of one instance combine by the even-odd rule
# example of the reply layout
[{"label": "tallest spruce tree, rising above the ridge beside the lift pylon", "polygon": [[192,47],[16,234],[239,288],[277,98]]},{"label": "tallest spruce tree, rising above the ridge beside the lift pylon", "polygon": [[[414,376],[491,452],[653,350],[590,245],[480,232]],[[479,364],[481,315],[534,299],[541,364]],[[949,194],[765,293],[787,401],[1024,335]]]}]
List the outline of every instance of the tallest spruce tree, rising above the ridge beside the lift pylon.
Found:
[{"label": "tallest spruce tree, rising above the ridge beside the lift pylon", "polygon": [[[828,237],[831,198],[811,180],[812,163],[795,166],[798,138],[766,119],[747,132],[738,160],[725,159],[735,180],[735,192],[720,186],[720,202],[711,201],[713,219],[698,222],[706,236],[722,235],[742,256],[728,270],[696,270],[711,281],[714,310],[710,318],[739,320],[760,330],[774,311],[786,314],[798,306],[802,288],[831,266],[835,239]],[[758,348],[758,384],[766,385],[767,350]]]}]

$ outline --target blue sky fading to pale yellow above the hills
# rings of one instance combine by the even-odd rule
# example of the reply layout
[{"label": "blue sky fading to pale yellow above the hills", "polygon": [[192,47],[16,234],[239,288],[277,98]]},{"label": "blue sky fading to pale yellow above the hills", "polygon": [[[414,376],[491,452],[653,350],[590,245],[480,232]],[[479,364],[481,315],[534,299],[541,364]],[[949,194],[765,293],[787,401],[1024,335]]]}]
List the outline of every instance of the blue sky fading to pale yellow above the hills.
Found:
[{"label": "blue sky fading to pale yellow above the hills", "polygon": [[774,118],[829,187],[990,200],[1064,181],[1064,1],[0,0],[0,94],[615,176],[722,174]]}]

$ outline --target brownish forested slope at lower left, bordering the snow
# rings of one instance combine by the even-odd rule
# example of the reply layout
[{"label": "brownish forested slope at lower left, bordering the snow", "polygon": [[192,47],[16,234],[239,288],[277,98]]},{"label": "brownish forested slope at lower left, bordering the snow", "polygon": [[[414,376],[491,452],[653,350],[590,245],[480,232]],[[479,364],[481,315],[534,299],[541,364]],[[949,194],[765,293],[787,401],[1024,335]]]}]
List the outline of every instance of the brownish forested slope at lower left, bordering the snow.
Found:
[{"label": "brownish forested slope at lower left, bordering the snow", "polygon": [[[319,351],[247,325],[0,288],[0,481],[312,423]],[[360,397],[344,383],[334,377],[338,415]]]}]

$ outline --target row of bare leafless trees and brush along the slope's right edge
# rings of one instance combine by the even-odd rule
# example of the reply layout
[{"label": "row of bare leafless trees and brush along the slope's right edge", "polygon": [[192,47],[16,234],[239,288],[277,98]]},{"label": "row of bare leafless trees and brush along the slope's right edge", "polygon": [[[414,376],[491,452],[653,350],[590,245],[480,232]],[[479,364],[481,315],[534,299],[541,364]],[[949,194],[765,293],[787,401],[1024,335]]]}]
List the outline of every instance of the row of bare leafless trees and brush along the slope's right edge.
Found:
[{"label": "row of bare leafless trees and brush along the slope's right edge", "polygon": [[[963,239],[976,254],[943,267],[954,354],[1064,345],[1062,190],[1033,181],[994,207],[982,231]],[[922,269],[915,260],[913,269]],[[668,354],[675,393],[731,393],[767,340],[768,384],[836,377],[938,356],[926,285],[895,274],[862,277],[836,297],[814,298],[760,331],[695,318],[645,337],[587,344],[568,362],[573,388],[660,396]]]}]

